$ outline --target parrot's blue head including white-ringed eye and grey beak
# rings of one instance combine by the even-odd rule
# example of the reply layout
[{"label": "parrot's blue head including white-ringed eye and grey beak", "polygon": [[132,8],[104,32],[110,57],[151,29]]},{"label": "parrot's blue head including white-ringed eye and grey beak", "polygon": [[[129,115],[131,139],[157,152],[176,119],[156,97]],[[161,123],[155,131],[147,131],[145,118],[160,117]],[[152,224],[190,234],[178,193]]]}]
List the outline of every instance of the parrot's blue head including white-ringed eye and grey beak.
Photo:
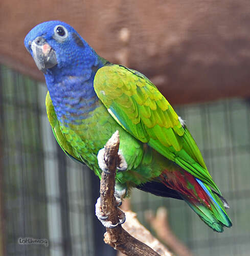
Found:
[{"label": "parrot's blue head including white-ringed eye and grey beak", "polygon": [[98,65],[98,56],[74,28],[53,20],[34,27],[25,47],[46,76],[74,76]]}]

